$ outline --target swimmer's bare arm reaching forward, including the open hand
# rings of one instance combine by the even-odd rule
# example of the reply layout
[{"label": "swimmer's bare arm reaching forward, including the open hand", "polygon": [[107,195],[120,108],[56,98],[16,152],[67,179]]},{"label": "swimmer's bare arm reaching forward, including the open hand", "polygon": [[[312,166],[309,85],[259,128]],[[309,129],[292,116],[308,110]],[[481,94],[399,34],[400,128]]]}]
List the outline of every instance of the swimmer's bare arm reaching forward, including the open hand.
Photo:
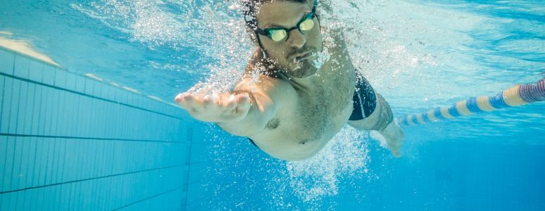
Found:
[{"label": "swimmer's bare arm reaching forward, including the open hand", "polygon": [[243,77],[228,93],[210,96],[186,92],[175,101],[196,120],[214,122],[236,136],[251,136],[265,129],[280,106],[296,103],[295,91],[286,83],[264,75],[258,83]]}]

